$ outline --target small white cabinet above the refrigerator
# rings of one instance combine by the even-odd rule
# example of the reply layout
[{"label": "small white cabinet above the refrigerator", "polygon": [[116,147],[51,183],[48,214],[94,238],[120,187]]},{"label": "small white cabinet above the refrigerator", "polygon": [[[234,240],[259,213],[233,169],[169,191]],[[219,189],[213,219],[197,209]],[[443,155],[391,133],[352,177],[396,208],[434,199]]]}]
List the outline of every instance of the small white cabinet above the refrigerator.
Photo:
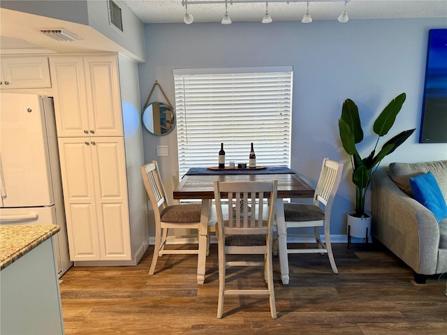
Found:
[{"label": "small white cabinet above the refrigerator", "polygon": [[51,87],[48,57],[2,57],[0,89]]}]

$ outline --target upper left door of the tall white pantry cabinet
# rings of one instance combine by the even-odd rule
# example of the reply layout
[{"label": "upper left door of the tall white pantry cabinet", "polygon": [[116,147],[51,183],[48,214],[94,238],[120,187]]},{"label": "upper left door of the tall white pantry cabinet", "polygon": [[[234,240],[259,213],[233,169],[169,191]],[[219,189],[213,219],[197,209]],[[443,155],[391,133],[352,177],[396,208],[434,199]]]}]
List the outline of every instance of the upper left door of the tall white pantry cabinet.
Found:
[{"label": "upper left door of the tall white pantry cabinet", "polygon": [[82,57],[50,57],[57,136],[89,134],[89,111]]}]

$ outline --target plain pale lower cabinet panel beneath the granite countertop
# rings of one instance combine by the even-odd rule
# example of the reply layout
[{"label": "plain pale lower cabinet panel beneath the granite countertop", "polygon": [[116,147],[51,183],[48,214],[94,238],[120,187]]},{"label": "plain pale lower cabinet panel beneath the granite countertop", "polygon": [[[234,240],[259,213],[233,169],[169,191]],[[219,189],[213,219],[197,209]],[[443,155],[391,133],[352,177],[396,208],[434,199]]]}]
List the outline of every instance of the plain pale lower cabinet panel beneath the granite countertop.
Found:
[{"label": "plain pale lower cabinet panel beneath the granite countertop", "polygon": [[53,239],[0,272],[0,334],[64,334]]}]

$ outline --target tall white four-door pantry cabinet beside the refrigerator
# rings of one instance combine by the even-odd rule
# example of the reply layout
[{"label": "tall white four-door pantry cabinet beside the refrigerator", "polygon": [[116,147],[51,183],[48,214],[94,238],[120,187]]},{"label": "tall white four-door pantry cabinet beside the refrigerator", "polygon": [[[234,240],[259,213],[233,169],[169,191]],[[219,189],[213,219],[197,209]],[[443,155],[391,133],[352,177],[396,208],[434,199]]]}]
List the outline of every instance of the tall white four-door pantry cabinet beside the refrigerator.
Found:
[{"label": "tall white four-door pantry cabinet beside the refrigerator", "polygon": [[115,54],[57,55],[50,70],[70,258],[136,265],[149,244],[142,130],[121,101],[140,105],[138,66]]}]

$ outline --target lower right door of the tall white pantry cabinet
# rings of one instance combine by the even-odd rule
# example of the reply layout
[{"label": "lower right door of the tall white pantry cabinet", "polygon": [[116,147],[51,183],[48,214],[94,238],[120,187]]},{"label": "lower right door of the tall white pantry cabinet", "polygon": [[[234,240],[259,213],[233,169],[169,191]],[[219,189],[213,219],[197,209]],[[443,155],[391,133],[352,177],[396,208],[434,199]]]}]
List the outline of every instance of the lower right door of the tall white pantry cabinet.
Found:
[{"label": "lower right door of the tall white pantry cabinet", "polygon": [[130,260],[123,137],[91,137],[102,260]]}]

